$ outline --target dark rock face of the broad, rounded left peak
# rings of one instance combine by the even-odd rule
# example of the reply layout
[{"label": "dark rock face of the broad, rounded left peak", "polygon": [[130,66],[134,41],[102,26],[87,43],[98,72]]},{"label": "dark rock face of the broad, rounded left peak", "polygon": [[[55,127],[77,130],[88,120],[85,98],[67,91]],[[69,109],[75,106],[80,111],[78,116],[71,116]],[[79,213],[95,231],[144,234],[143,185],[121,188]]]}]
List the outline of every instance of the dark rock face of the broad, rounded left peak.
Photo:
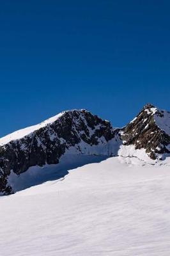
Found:
[{"label": "dark rock face of the broad, rounded left peak", "polygon": [[[8,184],[11,170],[20,174],[30,166],[57,164],[70,148],[75,154],[98,154],[98,148],[105,150],[111,140],[120,136],[109,122],[86,110],[65,111],[52,124],[0,147],[0,193],[13,193]],[[102,154],[111,156],[112,150]]]}]

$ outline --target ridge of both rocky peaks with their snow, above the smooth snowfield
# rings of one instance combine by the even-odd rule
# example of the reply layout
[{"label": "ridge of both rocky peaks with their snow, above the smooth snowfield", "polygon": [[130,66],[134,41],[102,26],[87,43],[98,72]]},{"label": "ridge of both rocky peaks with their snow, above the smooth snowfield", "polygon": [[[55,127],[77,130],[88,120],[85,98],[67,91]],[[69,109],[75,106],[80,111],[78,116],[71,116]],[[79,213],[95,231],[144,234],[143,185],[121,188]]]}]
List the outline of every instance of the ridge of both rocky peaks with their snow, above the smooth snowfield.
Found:
[{"label": "ridge of both rocky peaks with their snow, above the smooth snowfield", "polygon": [[151,104],[122,129],[84,109],[64,111],[0,139],[0,193],[13,193],[12,173],[58,164],[65,154],[137,157],[155,163],[169,153],[170,113]]}]

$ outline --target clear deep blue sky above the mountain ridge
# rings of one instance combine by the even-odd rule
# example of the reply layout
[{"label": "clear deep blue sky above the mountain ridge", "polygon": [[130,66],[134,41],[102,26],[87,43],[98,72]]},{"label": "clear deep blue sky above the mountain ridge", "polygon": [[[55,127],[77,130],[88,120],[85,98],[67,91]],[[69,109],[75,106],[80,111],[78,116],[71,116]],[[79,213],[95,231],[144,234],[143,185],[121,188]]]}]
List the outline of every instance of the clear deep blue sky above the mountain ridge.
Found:
[{"label": "clear deep blue sky above the mountain ridge", "polygon": [[169,1],[1,1],[0,136],[86,108],[170,110]]}]

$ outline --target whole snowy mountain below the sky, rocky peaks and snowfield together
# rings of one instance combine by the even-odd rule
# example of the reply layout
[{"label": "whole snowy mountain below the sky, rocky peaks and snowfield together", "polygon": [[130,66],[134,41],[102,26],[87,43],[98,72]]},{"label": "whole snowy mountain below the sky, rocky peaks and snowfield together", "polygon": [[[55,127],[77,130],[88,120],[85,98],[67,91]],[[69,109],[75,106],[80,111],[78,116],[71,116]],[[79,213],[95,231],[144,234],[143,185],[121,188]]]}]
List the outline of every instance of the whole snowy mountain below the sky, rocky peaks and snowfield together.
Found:
[{"label": "whole snowy mountain below the sky, rocky peaks and snowfield together", "polygon": [[169,256],[167,111],[65,111],[0,144],[1,255]]}]

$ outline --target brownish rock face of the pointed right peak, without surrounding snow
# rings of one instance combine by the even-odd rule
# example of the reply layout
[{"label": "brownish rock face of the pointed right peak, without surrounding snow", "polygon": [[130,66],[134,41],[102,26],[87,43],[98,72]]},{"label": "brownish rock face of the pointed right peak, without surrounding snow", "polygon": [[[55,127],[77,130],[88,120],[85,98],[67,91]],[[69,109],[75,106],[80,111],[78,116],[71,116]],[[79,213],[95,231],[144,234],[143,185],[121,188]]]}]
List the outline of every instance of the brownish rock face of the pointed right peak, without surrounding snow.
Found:
[{"label": "brownish rock face of the pointed right peak, without surrounding snow", "polygon": [[163,124],[164,111],[146,104],[139,115],[123,129],[123,144],[135,145],[135,149],[145,148],[151,159],[161,159],[162,154],[169,154],[170,136],[158,127],[157,118],[162,118]]}]

